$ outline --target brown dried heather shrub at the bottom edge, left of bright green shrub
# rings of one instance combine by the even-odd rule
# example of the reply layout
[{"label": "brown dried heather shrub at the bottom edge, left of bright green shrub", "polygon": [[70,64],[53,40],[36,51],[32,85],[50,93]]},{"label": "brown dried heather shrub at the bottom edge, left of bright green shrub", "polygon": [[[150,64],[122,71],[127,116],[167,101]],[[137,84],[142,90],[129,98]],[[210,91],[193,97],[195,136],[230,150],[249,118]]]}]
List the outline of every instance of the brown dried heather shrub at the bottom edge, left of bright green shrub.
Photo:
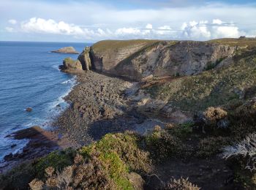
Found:
[{"label": "brown dried heather shrub at the bottom edge, left of bright green shrub", "polygon": [[[78,161],[79,160],[79,161]],[[53,174],[53,167],[45,169],[50,172],[45,182],[34,179],[29,183],[31,189],[116,189],[113,180],[102,167],[101,162],[94,156],[87,162],[79,154],[75,164],[64,167],[61,172]]]}]

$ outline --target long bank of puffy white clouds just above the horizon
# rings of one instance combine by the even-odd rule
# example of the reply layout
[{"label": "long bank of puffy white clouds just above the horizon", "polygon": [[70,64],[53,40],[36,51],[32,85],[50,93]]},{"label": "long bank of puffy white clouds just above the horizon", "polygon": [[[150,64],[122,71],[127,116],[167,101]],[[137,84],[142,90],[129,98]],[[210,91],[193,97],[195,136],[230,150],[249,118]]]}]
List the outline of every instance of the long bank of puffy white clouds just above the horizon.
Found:
[{"label": "long bank of puffy white clouds just above the horizon", "polygon": [[[191,20],[173,29],[172,26],[163,25],[153,28],[151,23],[143,28],[89,28],[78,26],[64,21],[53,19],[30,18],[20,24],[20,31],[35,34],[61,34],[75,37],[75,39],[100,40],[100,39],[195,39],[208,40],[222,37],[239,37],[244,34],[235,24],[224,22],[220,19]],[[18,28],[15,28],[17,30]],[[12,32],[14,28],[6,27],[6,31]]]}]

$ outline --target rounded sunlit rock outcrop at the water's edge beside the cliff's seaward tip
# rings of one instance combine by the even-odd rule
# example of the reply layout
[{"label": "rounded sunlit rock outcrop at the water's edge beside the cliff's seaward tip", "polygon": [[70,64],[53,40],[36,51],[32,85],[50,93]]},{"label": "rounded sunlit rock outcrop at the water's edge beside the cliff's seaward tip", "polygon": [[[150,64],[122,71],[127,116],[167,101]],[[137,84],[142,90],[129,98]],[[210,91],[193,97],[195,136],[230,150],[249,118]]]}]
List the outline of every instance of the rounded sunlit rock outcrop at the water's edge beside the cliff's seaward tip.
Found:
[{"label": "rounded sunlit rock outcrop at the water's edge beside the cliff's seaward tip", "polygon": [[62,72],[78,73],[83,72],[83,66],[79,60],[73,60],[72,58],[65,58],[63,65],[59,66]]}]

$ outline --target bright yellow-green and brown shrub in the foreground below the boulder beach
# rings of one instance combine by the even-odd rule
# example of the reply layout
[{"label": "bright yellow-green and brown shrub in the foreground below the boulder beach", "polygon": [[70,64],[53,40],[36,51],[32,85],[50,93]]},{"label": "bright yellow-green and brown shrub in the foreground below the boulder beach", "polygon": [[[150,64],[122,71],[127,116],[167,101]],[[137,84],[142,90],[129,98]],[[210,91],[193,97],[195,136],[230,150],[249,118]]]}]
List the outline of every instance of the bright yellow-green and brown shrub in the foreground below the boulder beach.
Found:
[{"label": "bright yellow-green and brown shrub in the foreground below the boulder beach", "polygon": [[132,189],[127,178],[130,170],[151,170],[149,154],[138,148],[140,137],[136,134],[106,134],[102,140],[80,149],[84,157],[97,156],[106,173],[120,189]]}]

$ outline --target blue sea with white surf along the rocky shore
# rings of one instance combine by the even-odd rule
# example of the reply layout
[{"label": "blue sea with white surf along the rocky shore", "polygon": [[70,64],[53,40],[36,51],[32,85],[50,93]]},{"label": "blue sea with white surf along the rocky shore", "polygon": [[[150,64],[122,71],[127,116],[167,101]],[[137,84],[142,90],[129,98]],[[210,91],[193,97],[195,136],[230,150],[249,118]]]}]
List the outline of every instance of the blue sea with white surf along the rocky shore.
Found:
[{"label": "blue sea with white surf along the rocky shore", "polygon": [[0,42],[0,161],[28,142],[8,134],[31,126],[50,129],[51,121],[67,107],[63,98],[76,81],[74,75],[60,72],[59,65],[78,55],[50,53],[67,46],[81,52],[91,43]]}]

